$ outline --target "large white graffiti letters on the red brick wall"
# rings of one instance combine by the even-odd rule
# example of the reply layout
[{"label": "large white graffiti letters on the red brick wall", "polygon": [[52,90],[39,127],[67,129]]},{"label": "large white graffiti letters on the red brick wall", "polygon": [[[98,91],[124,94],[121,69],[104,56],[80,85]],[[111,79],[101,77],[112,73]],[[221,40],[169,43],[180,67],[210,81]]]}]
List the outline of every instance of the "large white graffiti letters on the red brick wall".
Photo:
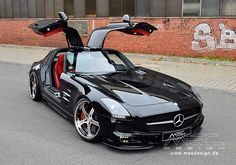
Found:
[{"label": "large white graffiti letters on the red brick wall", "polygon": [[213,30],[208,23],[201,23],[194,28],[192,50],[203,53],[216,49],[236,49],[236,32],[226,23],[219,24],[220,42],[217,43]]}]

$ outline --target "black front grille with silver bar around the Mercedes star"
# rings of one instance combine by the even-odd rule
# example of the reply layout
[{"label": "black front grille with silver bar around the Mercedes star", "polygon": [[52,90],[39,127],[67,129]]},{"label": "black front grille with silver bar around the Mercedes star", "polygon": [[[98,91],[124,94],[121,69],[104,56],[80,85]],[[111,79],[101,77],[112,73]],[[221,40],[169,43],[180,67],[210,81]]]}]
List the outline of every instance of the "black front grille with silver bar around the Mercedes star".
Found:
[{"label": "black front grille with silver bar around the Mercedes star", "polygon": [[[175,130],[177,128],[181,129],[195,122],[198,119],[200,113],[201,113],[201,108],[194,108],[194,109],[183,110],[181,112],[178,111],[178,112],[146,117],[145,118],[146,130],[150,132],[155,132],[155,131]],[[178,114],[183,114],[184,122],[180,127],[175,127],[173,120],[174,117]]]}]

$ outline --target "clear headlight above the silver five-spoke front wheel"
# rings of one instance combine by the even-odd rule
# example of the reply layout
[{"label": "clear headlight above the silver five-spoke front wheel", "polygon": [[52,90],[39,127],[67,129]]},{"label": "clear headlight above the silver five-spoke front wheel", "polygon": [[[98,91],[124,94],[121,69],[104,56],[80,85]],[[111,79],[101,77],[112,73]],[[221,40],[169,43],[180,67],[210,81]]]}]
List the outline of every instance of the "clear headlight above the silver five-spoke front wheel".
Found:
[{"label": "clear headlight above the silver five-spoke front wheel", "polygon": [[117,101],[109,98],[102,98],[101,101],[111,112],[112,117],[125,119],[126,117],[130,116],[127,110]]}]

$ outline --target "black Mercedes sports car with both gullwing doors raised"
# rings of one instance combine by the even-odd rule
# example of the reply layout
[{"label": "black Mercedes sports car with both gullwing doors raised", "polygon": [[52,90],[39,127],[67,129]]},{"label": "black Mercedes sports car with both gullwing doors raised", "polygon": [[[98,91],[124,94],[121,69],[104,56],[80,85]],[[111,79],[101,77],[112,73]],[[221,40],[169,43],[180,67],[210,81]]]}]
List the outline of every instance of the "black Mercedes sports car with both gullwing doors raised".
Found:
[{"label": "black Mercedes sports car with both gullwing doors raised", "polygon": [[[136,67],[122,53],[104,49],[106,35],[118,31],[150,35],[157,30],[141,22],[110,23],[95,29],[84,46],[68,17],[30,25],[44,36],[63,31],[68,48],[55,49],[33,63],[29,72],[30,96],[44,100],[73,120],[86,141],[102,141],[119,149],[148,149],[170,139],[181,139],[201,126],[202,101],[185,82]],[[125,41],[120,41],[125,42]]]}]

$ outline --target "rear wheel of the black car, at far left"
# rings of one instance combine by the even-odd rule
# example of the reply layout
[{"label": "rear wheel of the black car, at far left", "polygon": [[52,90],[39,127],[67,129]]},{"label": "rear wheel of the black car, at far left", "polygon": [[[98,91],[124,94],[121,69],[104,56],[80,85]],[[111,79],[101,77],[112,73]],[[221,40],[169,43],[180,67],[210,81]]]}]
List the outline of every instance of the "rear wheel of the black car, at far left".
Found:
[{"label": "rear wheel of the black car, at far left", "polygon": [[39,80],[35,72],[31,72],[29,75],[29,93],[32,100],[34,101],[42,100]]}]

